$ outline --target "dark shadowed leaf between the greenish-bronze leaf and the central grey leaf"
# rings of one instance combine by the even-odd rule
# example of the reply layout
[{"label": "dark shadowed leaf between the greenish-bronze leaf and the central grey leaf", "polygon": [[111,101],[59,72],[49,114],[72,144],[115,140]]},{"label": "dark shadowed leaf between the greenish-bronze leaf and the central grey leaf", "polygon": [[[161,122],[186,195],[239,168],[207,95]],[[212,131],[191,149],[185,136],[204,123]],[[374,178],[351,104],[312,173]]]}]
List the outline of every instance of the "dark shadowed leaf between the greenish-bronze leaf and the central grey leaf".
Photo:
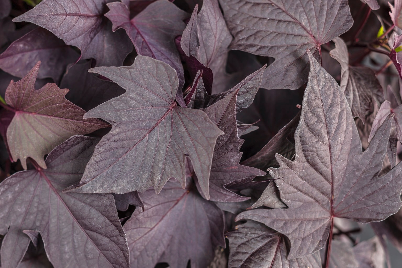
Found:
[{"label": "dark shadowed leaf between the greenish-bronze leaf and the central grey leaf", "polygon": [[60,83],[60,88],[70,89],[66,99],[86,111],[125,92],[117,84],[88,73],[90,64],[90,61],[74,64],[68,68]]}]

